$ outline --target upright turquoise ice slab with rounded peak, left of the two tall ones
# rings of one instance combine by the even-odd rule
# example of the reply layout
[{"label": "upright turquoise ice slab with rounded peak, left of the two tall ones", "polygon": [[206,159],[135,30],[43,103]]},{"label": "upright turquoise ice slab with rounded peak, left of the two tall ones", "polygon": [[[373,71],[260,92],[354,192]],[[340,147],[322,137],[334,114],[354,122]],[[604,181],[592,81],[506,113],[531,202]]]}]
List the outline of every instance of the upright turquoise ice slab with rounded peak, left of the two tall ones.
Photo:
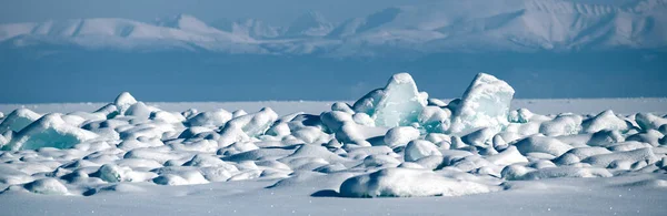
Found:
[{"label": "upright turquoise ice slab with rounded peak, left of the two tall ones", "polygon": [[410,74],[398,73],[385,89],[375,90],[357,101],[354,109],[370,115],[377,126],[407,126],[418,121],[427,99],[426,93],[417,91]]}]

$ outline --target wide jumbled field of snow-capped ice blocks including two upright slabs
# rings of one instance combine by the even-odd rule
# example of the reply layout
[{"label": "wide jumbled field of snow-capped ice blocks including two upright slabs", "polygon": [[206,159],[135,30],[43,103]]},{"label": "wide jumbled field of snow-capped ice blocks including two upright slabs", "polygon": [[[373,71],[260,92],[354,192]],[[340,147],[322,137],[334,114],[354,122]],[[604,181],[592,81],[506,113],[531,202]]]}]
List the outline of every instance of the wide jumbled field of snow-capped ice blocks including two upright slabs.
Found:
[{"label": "wide jumbled field of snow-capped ice blocks including two upright slabs", "polygon": [[447,103],[399,73],[319,115],[168,112],[129,93],[94,112],[19,109],[0,114],[0,189],[89,196],[121,183],[140,191],[346,174],[340,196],[460,196],[498,192],[508,181],[667,168],[665,116],[541,115],[510,111],[512,95],[480,73]]}]

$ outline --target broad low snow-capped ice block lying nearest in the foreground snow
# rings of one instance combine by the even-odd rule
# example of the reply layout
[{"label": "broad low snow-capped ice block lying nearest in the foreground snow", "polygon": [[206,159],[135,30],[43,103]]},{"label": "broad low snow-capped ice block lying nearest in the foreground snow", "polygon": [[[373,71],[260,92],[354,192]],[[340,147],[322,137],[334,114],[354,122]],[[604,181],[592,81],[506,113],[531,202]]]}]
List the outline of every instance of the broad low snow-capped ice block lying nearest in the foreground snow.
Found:
[{"label": "broad low snow-capped ice block lying nearest in the foreground snow", "polygon": [[495,191],[500,187],[411,168],[385,168],[348,178],[340,185],[340,195],[347,197],[462,196]]}]

